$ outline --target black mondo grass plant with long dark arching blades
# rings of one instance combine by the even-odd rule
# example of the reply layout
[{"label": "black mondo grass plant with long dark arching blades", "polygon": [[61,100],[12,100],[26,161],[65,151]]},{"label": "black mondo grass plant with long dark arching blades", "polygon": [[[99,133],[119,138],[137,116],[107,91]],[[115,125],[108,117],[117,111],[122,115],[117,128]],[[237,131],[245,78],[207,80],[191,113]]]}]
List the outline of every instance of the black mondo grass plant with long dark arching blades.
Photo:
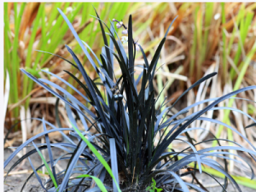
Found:
[{"label": "black mondo grass plant with long dark arching blades", "polygon": [[[177,98],[177,101],[171,107],[165,108],[166,103],[169,102],[165,100],[161,103],[160,108],[155,108],[155,103],[159,98],[159,96],[154,95],[153,86],[156,63],[160,58],[160,50],[165,44],[166,35],[172,24],[167,29],[165,37],[160,41],[152,61],[148,62],[142,46],[133,40],[131,15],[128,27],[118,20],[112,20],[111,26],[108,27],[100,20],[96,13],[96,19],[99,20],[105,44],[102,48],[102,54],[98,58],[93,50],[80,40],[72,24],[67,20],[66,15],[60,9],[59,12],[64,20],[66,20],[67,25],[102,82],[99,85],[93,79],[90,79],[78,57],[67,45],[66,48],[73,56],[74,62],[62,59],[76,67],[78,73],[81,73],[83,80],[78,79],[73,73],[68,71],[66,73],[81,86],[86,95],[55,74],[48,71],[44,71],[44,73],[60,79],[61,82],[71,87],[84,98],[86,105],[79,102],[77,98],[61,88],[61,86],[52,83],[48,79],[36,79],[30,73],[21,69],[22,73],[25,73],[30,79],[66,103],[67,115],[72,125],[70,128],[56,128],[55,125],[46,122],[44,119],[38,119],[44,125],[44,132],[21,144],[4,162],[4,167],[8,166],[9,162],[22,148],[29,144],[34,146],[34,149],[24,154],[8,171],[8,173],[11,172],[22,160],[28,158],[34,172],[27,178],[21,191],[33,175],[38,178],[39,184],[46,191],[189,191],[189,189],[207,191],[204,184],[200,183],[195,177],[196,172],[212,177],[222,187],[223,191],[227,191],[228,179],[230,179],[230,182],[234,184],[238,191],[241,191],[239,185],[228,172],[227,160],[234,160],[241,165],[244,163],[231,159],[230,154],[232,153],[230,153],[230,150],[246,152],[255,160],[256,148],[248,141],[247,137],[241,135],[239,131],[236,131],[230,125],[226,125],[217,119],[204,117],[203,114],[209,110],[218,109],[235,110],[238,113],[243,113],[236,108],[217,108],[216,105],[219,102],[230,99],[231,96],[236,96],[236,94],[242,91],[256,89],[256,86],[249,86],[225,96],[196,102],[170,115],[169,112],[172,112],[172,108],[174,108],[182,96],[198,84],[211,79],[217,74],[211,73],[195,82]],[[173,22],[174,20],[172,20]],[[116,24],[117,28],[124,27],[125,30],[122,33],[128,34],[128,55],[126,55],[125,49],[115,31],[114,24]],[[105,32],[106,28],[108,32]],[[97,65],[87,49],[90,49],[90,53],[95,57]],[[140,49],[143,54],[144,65],[140,66],[143,67],[143,72],[135,79],[134,60],[137,49]],[[122,72],[119,79],[116,79],[113,73],[114,60],[119,63]],[[55,89],[51,89],[47,84]],[[137,89],[138,84],[141,84],[140,90]],[[104,87],[106,91],[104,95],[102,95],[98,86]],[[58,90],[58,92],[55,90]],[[241,98],[232,97],[232,99]],[[189,114],[184,118],[181,117],[190,108],[195,108],[195,106],[207,102],[211,102],[211,104],[208,104],[206,108]],[[95,113],[88,109],[88,105],[95,109]],[[79,115],[79,119],[84,125],[84,130],[79,130],[76,119],[73,117],[74,111]],[[248,114],[243,114],[253,119]],[[189,137],[189,131],[203,129],[203,127],[191,127],[195,120],[204,120],[213,124],[224,125],[245,139],[253,149],[243,148],[239,143],[228,139],[217,139],[213,134],[212,139],[196,143],[193,138]],[[256,123],[256,120],[253,119],[253,122]],[[47,126],[48,128],[50,127],[49,130]],[[96,129],[96,134],[90,133],[92,127]],[[65,143],[49,142],[48,134],[54,131],[61,132],[62,136],[66,138]],[[67,137],[63,131],[70,131],[70,135],[73,136],[72,138],[75,141],[71,137]],[[45,137],[46,143],[35,144],[34,140],[38,137]],[[157,144],[154,145],[156,137],[159,137],[159,139]],[[189,147],[184,148],[182,151],[175,151],[170,146],[176,140],[187,143]],[[212,141],[218,141],[218,146],[196,150],[196,145]],[[234,145],[222,146],[220,141],[230,142]],[[54,158],[55,155],[52,152],[52,148],[60,148],[66,154]],[[41,153],[44,149],[48,150],[49,161],[45,160]],[[32,165],[32,161],[29,159],[29,156],[35,153],[38,153],[44,161],[44,164],[37,168]],[[220,165],[217,160],[213,160],[212,157],[223,159],[224,166]],[[56,172],[55,165],[61,160],[68,160],[67,167],[62,172]],[[42,181],[37,172],[44,166],[49,172],[49,180],[46,182]],[[209,166],[223,173],[225,176],[224,184],[219,183],[210,173],[203,172],[202,166]],[[253,179],[253,168],[250,165],[248,166],[251,168]],[[183,179],[183,177],[188,176],[193,177],[191,183]]]}]

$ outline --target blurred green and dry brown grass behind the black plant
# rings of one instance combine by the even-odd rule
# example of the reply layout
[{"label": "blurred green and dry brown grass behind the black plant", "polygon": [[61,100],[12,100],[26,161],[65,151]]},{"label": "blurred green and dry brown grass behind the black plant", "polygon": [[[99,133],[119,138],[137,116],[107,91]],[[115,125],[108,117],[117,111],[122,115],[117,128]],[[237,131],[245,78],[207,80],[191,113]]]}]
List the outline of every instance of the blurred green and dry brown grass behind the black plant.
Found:
[{"label": "blurred green and dry brown grass behind the black plant", "polygon": [[[45,77],[40,70],[49,69],[80,89],[78,84],[63,73],[63,70],[68,70],[76,74],[75,68],[55,56],[60,55],[71,60],[64,46],[68,44],[79,55],[86,71],[90,71],[90,78],[96,79],[93,67],[57,11],[57,8],[63,10],[72,21],[79,37],[99,55],[103,39],[98,21],[93,18],[96,15],[93,7],[108,26],[109,20],[113,18],[123,20],[126,24],[129,15],[132,15],[134,38],[145,49],[148,60],[152,58],[151,55],[164,36],[166,28],[178,15],[166,38],[165,49],[157,67],[155,90],[160,93],[166,86],[160,102],[165,97],[175,101],[189,84],[213,71],[218,72],[218,78],[189,91],[177,110],[185,107],[187,103],[223,96],[232,90],[256,84],[256,3],[4,3],[5,133],[17,123],[15,129],[9,132],[5,147],[25,141],[42,131],[42,125],[36,119],[29,119],[31,117],[44,117],[50,123],[62,127],[69,125],[63,103],[58,103],[49,92],[20,73],[20,68],[26,68],[29,73],[44,79],[49,77]],[[55,55],[38,52],[37,49]],[[135,64],[143,64],[140,52],[137,52]],[[114,71],[116,75],[121,73],[117,67]],[[136,71],[135,74],[138,75],[141,68],[137,67]],[[63,86],[58,79],[50,80]],[[255,91],[247,91],[239,97],[256,101]],[[231,99],[222,105],[239,108],[253,118],[256,116],[256,104],[253,102],[235,102]],[[207,115],[233,125],[251,143],[256,144],[255,127],[244,128],[252,123],[251,119],[240,113],[230,113],[229,110]],[[20,123],[20,119],[29,120]],[[196,126],[207,127],[217,137],[229,138],[243,145],[241,137],[226,131],[224,127],[201,125],[201,122],[196,122]],[[208,137],[205,132],[195,131],[191,134],[198,140]],[[51,136],[53,140],[59,137],[61,136]],[[235,175],[240,172],[231,162],[230,170]],[[254,188],[256,186],[255,181],[252,183],[246,177],[237,179],[244,185]]]}]

